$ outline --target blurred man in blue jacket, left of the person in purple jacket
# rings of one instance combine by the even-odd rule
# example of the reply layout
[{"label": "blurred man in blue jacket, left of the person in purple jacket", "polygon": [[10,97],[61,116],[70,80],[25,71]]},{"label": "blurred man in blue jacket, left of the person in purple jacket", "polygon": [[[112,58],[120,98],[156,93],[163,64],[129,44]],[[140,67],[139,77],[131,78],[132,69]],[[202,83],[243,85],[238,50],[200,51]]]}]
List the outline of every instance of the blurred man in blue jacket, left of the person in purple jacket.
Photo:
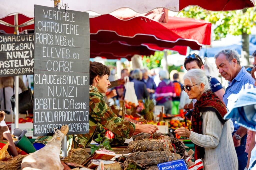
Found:
[{"label": "blurred man in blue jacket, left of the person in purple jacket", "polygon": [[147,91],[150,94],[150,99],[152,99],[153,94],[156,90],[156,84],[154,82],[154,79],[152,79],[150,76],[148,76],[148,70],[145,68],[142,70],[142,82],[146,84]]}]

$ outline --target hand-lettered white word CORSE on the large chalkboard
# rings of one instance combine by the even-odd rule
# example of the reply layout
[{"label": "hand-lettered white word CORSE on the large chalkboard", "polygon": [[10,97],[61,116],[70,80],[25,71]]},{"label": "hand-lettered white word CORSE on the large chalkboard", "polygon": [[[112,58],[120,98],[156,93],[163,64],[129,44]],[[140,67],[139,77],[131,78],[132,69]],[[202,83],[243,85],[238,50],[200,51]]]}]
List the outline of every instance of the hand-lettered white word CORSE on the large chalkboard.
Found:
[{"label": "hand-lettered white word CORSE on the large chalkboard", "polygon": [[71,71],[71,64],[73,62],[72,61],[51,61],[48,60],[46,62],[46,69],[48,71],[61,71],[61,72],[70,72],[73,73],[73,71]]}]

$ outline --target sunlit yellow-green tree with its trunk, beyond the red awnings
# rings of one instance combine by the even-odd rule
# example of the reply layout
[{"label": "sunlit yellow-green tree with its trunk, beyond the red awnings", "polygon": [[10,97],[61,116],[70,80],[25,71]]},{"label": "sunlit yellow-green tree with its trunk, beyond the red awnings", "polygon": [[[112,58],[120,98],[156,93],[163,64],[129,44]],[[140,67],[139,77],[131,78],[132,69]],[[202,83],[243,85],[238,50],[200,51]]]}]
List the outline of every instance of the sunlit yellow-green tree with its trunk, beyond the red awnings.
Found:
[{"label": "sunlit yellow-green tree with its trunk, beyond the red awnings", "polygon": [[212,41],[226,37],[227,34],[242,35],[242,56],[249,64],[249,34],[256,21],[254,8],[236,11],[206,11],[197,6],[190,6],[179,12],[178,16],[202,19],[216,25]]}]

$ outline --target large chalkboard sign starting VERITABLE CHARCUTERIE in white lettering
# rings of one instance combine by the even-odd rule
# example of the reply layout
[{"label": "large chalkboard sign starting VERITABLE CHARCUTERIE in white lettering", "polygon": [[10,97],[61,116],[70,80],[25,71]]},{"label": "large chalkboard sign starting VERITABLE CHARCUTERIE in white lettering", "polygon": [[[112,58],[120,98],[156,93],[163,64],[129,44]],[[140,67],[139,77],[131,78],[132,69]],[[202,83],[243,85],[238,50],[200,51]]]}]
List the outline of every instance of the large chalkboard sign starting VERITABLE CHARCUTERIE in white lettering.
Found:
[{"label": "large chalkboard sign starting VERITABLE CHARCUTERIE in white lettering", "polygon": [[89,14],[35,5],[34,136],[89,132]]}]

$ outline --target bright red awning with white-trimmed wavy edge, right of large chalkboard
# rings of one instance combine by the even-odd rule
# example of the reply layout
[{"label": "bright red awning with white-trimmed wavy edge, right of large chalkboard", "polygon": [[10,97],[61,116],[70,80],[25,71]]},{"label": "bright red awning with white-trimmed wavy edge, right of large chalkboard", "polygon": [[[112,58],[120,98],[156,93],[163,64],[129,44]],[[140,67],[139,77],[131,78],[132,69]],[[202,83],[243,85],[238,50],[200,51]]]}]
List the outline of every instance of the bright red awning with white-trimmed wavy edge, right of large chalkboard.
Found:
[{"label": "bright red awning with white-trimmed wavy edge, right of large chalkboard", "polygon": [[198,50],[201,45],[210,45],[211,23],[178,17],[169,17],[166,24],[145,17],[123,21],[101,15],[90,19],[90,33],[91,40],[99,43],[124,41],[130,45],[150,43],[164,48],[179,45]]}]

